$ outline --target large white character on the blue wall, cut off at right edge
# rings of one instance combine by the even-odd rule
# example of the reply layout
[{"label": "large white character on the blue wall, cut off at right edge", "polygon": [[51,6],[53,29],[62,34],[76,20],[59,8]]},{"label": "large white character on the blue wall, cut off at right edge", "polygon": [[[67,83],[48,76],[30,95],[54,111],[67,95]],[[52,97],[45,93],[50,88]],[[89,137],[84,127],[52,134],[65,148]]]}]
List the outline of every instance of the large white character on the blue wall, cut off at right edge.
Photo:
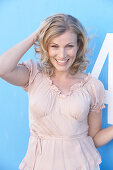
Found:
[{"label": "large white character on the blue wall, cut off at right edge", "polygon": [[[113,124],[113,33],[108,33],[92,70],[92,75],[99,77],[108,56],[108,90],[105,104],[108,104],[108,123]],[[106,71],[106,70],[105,70]]]}]

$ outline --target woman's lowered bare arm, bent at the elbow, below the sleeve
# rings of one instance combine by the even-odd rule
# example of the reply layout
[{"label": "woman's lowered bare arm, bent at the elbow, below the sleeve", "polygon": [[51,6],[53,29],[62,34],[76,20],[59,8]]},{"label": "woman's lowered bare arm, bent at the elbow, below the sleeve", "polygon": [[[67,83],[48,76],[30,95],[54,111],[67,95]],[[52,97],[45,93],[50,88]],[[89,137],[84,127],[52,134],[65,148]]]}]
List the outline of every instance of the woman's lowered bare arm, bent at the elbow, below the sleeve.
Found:
[{"label": "woman's lowered bare arm, bent at the elbow, below the sleeve", "polygon": [[90,112],[88,117],[89,136],[96,147],[105,145],[113,139],[113,126],[102,129],[102,111]]}]

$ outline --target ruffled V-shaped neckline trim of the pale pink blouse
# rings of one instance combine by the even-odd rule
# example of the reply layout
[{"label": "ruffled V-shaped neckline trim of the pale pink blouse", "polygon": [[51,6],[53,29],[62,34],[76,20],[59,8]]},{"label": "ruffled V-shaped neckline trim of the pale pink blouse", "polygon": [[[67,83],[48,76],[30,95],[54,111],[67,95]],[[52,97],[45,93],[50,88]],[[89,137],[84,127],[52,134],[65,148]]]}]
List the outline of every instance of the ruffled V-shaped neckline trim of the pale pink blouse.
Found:
[{"label": "ruffled V-shaped neckline trim of the pale pink blouse", "polygon": [[85,76],[84,78],[82,78],[81,81],[79,81],[79,82],[77,82],[77,83],[74,83],[74,84],[70,87],[69,92],[63,93],[63,92],[53,83],[53,80],[51,79],[51,77],[48,76],[48,75],[46,75],[46,80],[48,81],[51,89],[52,89],[59,97],[62,97],[62,98],[66,97],[66,96],[70,96],[75,89],[78,89],[78,88],[83,87],[83,86],[89,81],[90,78],[91,78],[91,74],[90,74],[90,73],[86,74],[86,76]]}]

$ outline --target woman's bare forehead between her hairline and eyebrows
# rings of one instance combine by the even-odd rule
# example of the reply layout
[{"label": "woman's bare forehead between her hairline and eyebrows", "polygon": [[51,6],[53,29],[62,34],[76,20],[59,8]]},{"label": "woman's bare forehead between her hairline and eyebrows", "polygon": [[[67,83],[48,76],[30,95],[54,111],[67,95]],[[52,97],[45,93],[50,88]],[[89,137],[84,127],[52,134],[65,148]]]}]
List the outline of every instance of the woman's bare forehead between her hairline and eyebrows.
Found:
[{"label": "woman's bare forehead between her hairline and eyebrows", "polygon": [[51,39],[50,43],[70,43],[77,41],[77,34],[71,31],[66,31],[61,35],[58,35]]}]

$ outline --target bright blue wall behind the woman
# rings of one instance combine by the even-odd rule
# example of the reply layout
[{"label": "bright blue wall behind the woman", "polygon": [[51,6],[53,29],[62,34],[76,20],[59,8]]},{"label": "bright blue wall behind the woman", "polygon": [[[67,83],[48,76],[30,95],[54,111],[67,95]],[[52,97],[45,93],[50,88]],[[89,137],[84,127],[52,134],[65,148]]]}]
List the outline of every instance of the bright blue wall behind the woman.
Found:
[{"label": "bright blue wall behind the woman", "polygon": [[[0,0],[0,54],[34,32],[46,17],[67,13],[77,17],[93,36],[91,72],[107,33],[113,33],[112,0]],[[34,58],[32,47],[22,58]],[[107,90],[106,60],[99,79]],[[103,128],[107,122],[107,105],[103,110]],[[0,79],[0,170],[17,170],[28,146],[28,96],[20,87]],[[113,141],[99,152],[101,170],[113,170]],[[76,158],[75,158],[76,159]]]}]

